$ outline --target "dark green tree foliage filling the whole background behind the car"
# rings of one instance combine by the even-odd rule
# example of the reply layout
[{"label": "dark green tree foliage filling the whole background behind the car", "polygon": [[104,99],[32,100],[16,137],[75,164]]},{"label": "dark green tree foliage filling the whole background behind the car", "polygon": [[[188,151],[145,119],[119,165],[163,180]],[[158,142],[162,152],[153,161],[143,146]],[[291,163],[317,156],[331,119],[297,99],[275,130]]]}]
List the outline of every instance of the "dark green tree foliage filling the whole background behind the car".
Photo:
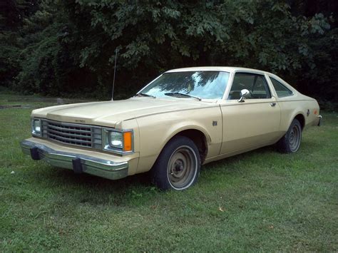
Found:
[{"label": "dark green tree foliage filling the whole background behind the car", "polygon": [[325,15],[277,0],[44,0],[38,6],[20,21],[19,50],[6,39],[2,55],[16,52],[13,68],[0,65],[24,91],[108,98],[116,48],[117,98],[186,66],[260,68],[311,95],[324,96],[327,88],[318,93],[317,86],[336,89],[336,21],[322,6]]}]

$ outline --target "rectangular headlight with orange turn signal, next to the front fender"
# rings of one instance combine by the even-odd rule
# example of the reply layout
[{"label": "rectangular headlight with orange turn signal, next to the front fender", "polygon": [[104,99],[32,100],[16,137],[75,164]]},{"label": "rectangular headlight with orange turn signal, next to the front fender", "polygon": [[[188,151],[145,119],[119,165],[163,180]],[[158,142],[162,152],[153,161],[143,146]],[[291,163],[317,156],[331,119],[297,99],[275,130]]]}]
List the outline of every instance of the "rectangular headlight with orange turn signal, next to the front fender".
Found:
[{"label": "rectangular headlight with orange turn signal, next to the front fender", "polygon": [[103,144],[103,150],[117,153],[133,152],[133,131],[104,129]]}]

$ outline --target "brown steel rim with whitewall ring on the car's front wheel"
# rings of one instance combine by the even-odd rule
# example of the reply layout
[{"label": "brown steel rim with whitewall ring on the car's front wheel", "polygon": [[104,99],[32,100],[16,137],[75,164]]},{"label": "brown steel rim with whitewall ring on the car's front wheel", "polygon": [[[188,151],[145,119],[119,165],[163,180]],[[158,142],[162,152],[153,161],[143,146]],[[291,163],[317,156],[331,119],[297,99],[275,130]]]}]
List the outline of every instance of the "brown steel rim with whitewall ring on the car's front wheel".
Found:
[{"label": "brown steel rim with whitewall ring on the car's front wheel", "polygon": [[168,162],[168,180],[176,190],[183,190],[193,184],[197,172],[197,157],[188,146],[177,148]]}]

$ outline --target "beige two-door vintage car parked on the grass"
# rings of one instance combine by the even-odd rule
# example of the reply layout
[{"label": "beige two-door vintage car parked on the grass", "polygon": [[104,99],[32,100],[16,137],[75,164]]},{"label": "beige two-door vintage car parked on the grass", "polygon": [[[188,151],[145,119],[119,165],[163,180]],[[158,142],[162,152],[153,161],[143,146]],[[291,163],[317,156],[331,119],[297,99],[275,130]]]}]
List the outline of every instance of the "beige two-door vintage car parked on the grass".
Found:
[{"label": "beige two-door vintage car parked on the grass", "polygon": [[275,143],[296,152],[302,130],[321,119],[316,100],[272,73],[180,68],[127,100],[34,110],[21,148],[76,173],[117,180],[150,171],[160,189],[184,190],[208,162]]}]

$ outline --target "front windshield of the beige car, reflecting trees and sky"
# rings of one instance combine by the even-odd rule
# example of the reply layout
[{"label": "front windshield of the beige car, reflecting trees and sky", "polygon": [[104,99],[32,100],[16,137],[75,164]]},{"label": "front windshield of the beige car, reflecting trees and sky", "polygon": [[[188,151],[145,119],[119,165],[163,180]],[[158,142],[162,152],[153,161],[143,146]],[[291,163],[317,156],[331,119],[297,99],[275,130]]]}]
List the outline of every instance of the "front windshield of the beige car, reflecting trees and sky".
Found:
[{"label": "front windshield of the beige car, reflecting trees and sky", "polygon": [[[198,98],[220,99],[229,73],[224,71],[185,71],[164,73],[140,93],[167,97],[169,93],[183,93]],[[167,94],[165,94],[167,93]],[[179,96],[182,97],[182,96]]]}]

